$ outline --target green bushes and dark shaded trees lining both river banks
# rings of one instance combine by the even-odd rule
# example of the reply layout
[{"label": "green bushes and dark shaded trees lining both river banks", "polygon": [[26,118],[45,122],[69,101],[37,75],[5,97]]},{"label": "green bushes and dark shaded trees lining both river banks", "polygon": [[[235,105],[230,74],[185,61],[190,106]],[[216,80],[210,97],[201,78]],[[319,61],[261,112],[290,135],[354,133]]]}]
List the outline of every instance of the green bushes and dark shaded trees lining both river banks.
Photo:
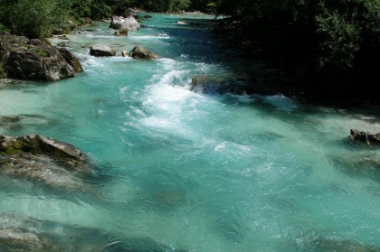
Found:
[{"label": "green bushes and dark shaded trees lining both river banks", "polygon": [[[0,0],[0,5],[0,33],[29,39],[70,31],[88,19],[128,16],[131,7],[223,15],[214,32],[242,49],[243,57],[278,69],[275,77],[283,85],[319,100],[377,103],[379,0]],[[3,66],[0,77],[5,76]]]}]

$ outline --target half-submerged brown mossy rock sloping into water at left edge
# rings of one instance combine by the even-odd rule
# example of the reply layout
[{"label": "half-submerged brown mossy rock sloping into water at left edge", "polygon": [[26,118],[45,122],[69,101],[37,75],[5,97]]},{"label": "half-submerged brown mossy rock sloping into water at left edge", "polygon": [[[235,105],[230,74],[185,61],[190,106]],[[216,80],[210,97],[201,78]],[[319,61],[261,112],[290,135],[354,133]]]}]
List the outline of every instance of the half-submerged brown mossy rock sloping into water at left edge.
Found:
[{"label": "half-submerged brown mossy rock sloping into water at left edge", "polygon": [[73,145],[42,135],[0,135],[0,174],[85,191],[80,174],[88,173],[90,163]]}]

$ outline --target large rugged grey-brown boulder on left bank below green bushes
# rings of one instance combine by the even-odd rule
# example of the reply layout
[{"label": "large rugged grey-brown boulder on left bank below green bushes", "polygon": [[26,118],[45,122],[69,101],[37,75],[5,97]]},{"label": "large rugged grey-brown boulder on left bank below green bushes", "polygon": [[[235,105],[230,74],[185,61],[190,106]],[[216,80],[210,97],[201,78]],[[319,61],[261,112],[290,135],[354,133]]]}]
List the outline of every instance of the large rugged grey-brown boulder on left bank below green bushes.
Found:
[{"label": "large rugged grey-brown boulder on left bank below green bushes", "polygon": [[57,48],[37,39],[0,36],[0,66],[10,78],[52,81],[73,77],[81,71],[81,63],[75,61],[78,66],[74,68],[65,57],[69,54],[71,59],[75,57],[69,51],[63,53],[64,55]]}]

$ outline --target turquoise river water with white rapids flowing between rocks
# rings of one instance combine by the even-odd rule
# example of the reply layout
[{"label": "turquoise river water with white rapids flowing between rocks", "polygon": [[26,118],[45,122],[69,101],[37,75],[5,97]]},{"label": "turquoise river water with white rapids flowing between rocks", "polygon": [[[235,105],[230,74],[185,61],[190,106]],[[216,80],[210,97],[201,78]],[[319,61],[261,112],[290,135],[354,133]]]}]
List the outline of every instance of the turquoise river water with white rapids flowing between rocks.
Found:
[{"label": "turquoise river water with white rapids flowing between rocks", "polygon": [[[53,221],[62,236],[97,229],[166,250],[380,247],[380,154],[347,140],[350,128],[380,132],[378,111],[189,91],[192,76],[261,65],[220,50],[204,29],[210,16],[152,15],[128,37],[109,23],[68,35],[85,70],[74,79],[0,89],[0,115],[24,116],[0,134],[50,136],[95,164],[82,181],[91,193],[0,177],[0,212]],[[163,58],[94,58],[94,43],[141,44]]]}]

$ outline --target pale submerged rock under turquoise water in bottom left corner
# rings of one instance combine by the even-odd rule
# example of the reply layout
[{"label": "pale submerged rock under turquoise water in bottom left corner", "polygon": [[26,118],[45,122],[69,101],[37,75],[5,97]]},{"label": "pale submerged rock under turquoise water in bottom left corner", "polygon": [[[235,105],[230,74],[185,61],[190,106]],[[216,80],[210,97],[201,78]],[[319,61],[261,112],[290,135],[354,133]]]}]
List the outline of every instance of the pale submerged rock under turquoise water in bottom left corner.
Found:
[{"label": "pale submerged rock under turquoise water in bottom left corner", "polygon": [[0,251],[184,251],[152,238],[0,213]]}]

